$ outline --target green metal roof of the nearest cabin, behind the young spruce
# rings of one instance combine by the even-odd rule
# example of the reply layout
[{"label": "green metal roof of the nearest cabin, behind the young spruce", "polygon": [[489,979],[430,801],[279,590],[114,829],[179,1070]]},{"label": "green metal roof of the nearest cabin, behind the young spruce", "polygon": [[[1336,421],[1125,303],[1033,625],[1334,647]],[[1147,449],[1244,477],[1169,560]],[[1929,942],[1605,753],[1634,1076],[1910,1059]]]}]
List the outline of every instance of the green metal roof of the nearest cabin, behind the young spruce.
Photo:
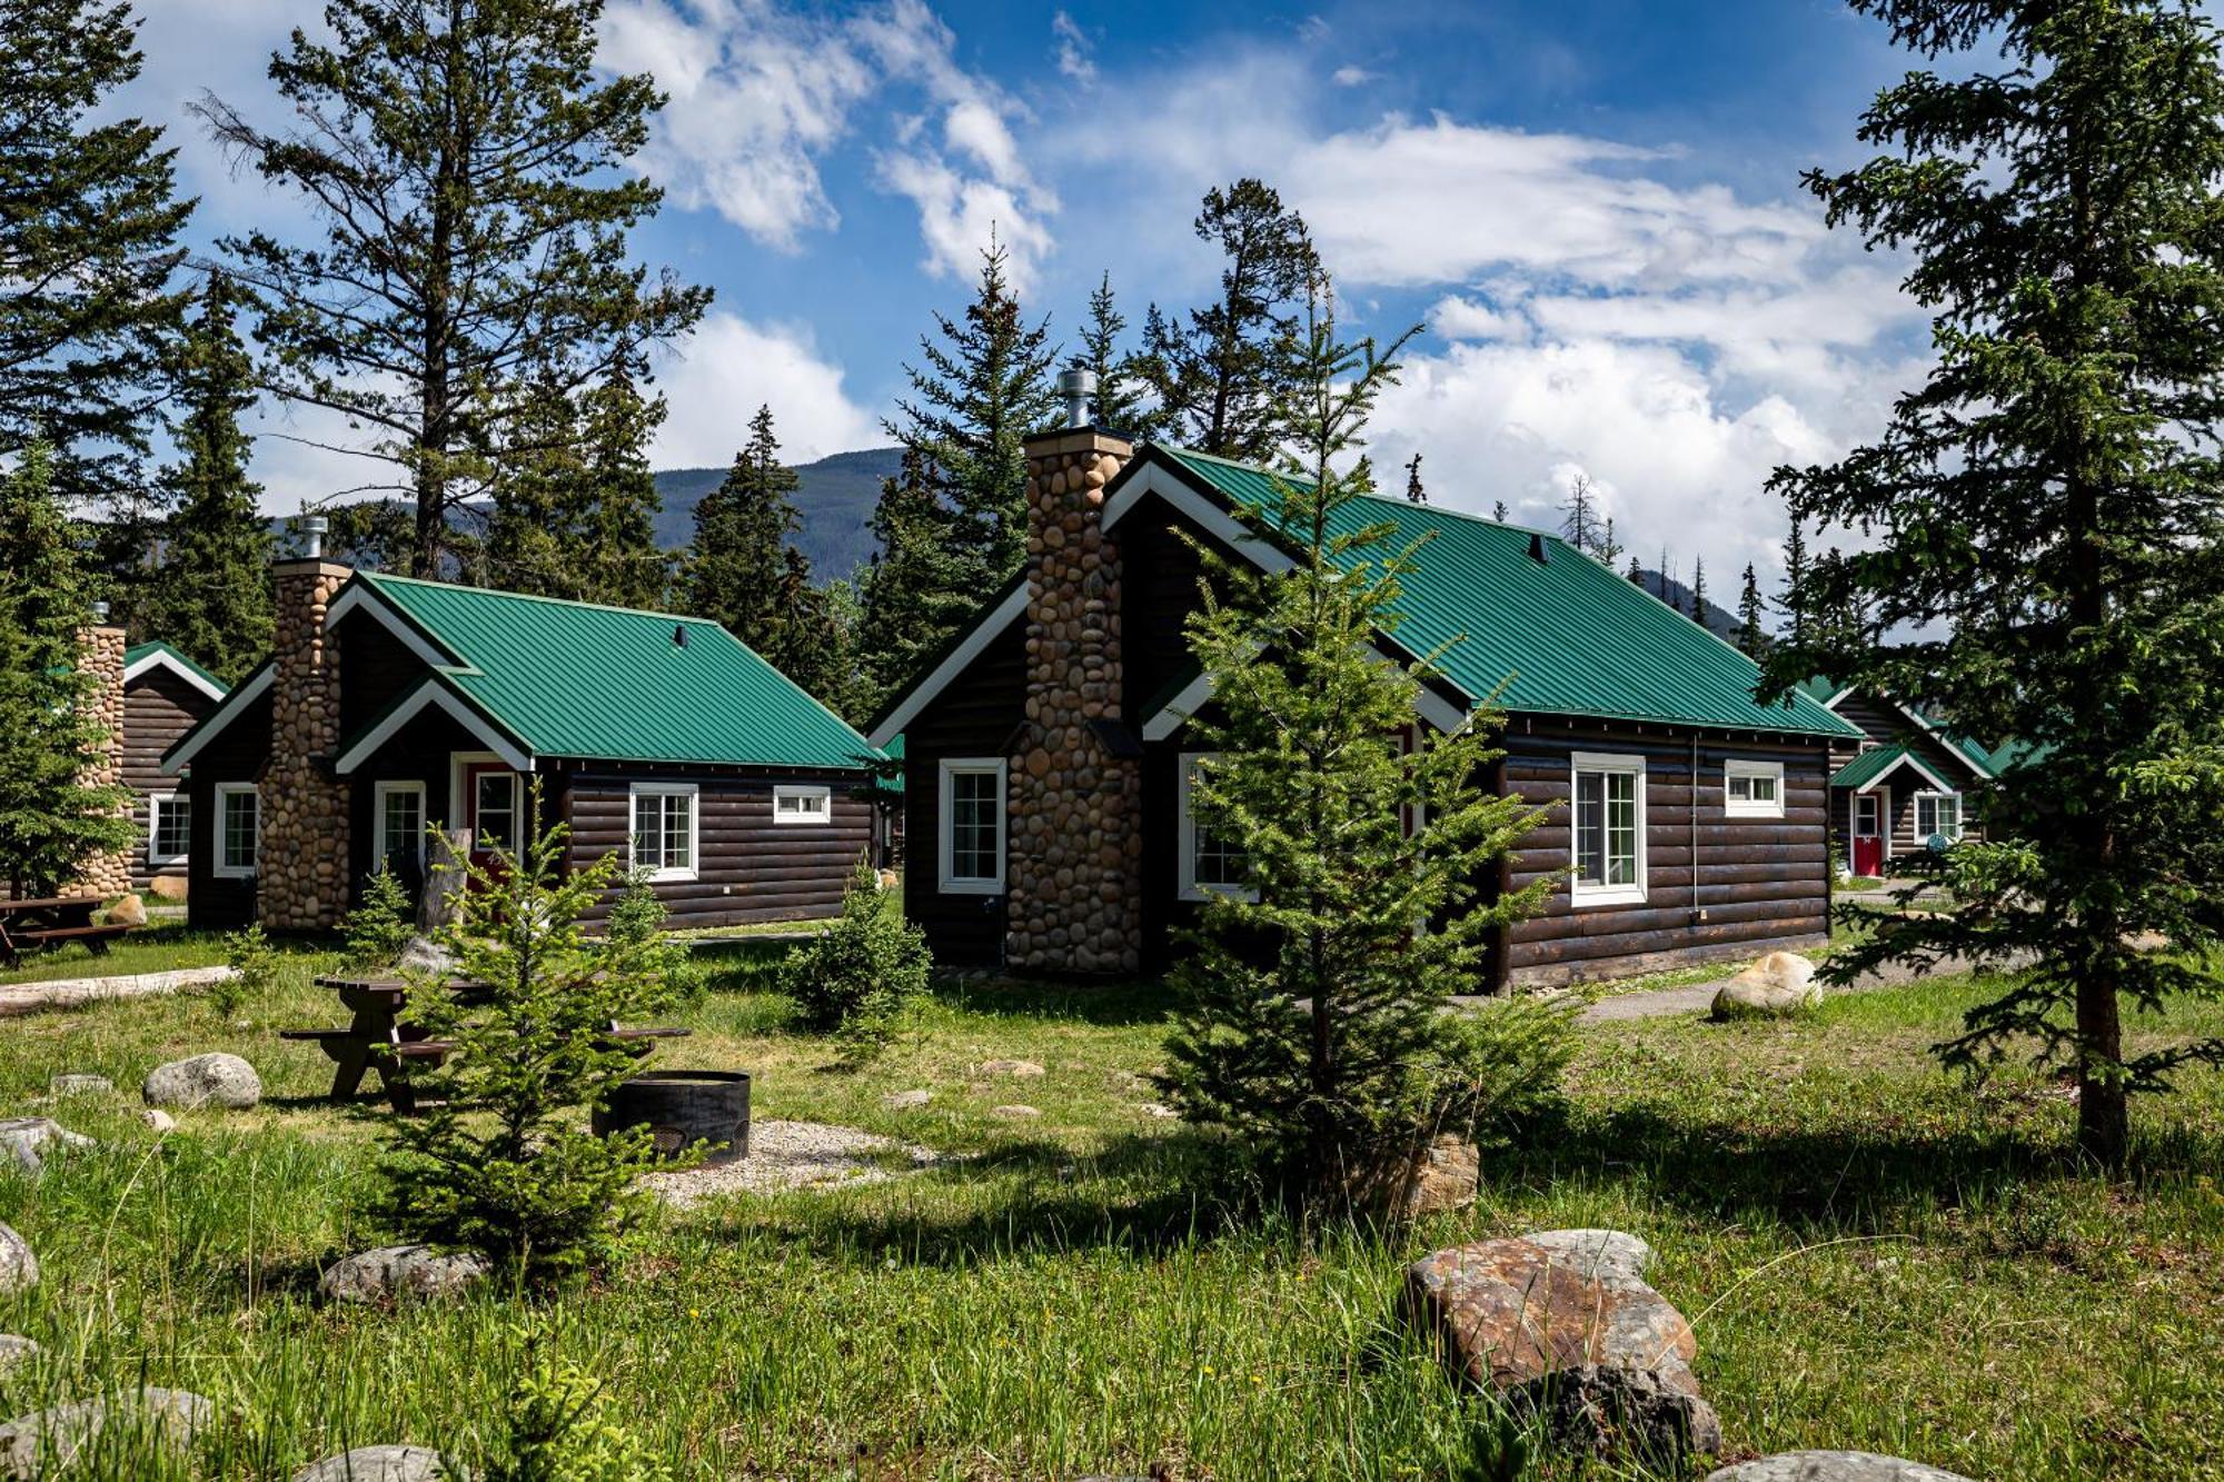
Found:
[{"label": "green metal roof of the nearest cabin, behind the young spruce", "polygon": [[[1234,505],[1279,503],[1265,470],[1159,452]],[[1421,654],[1450,645],[1441,668],[1475,699],[1499,692],[1501,708],[1532,714],[1861,734],[1801,692],[1761,705],[1750,659],[1555,534],[1381,496],[1334,518],[1343,534],[1368,523],[1397,527],[1388,550],[1428,539],[1403,581],[1394,636]],[[1530,559],[1532,539],[1543,563]]]}]

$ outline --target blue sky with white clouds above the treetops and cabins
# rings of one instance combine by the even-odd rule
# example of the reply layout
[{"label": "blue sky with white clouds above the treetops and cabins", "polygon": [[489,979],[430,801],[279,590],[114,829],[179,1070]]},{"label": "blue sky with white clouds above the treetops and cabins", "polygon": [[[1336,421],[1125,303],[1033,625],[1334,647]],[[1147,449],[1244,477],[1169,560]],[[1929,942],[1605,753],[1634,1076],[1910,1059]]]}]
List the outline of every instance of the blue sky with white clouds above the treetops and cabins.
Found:
[{"label": "blue sky with white clouds above the treetops and cabins", "polygon": [[[196,234],[307,231],[185,118],[200,89],[280,118],[262,67],[305,0],[142,0],[127,105],[173,129]],[[1797,185],[1859,158],[1906,58],[1826,0],[1555,4],[930,4],[607,0],[603,60],[672,93],[638,167],[667,187],[643,258],[716,289],[658,367],[658,465],[723,463],[770,401],[790,454],[881,443],[930,309],[994,223],[1070,336],[1110,271],[1130,320],[1217,263],[1205,187],[1263,176],[1305,211],[1354,329],[1428,325],[1377,456],[1432,496],[1548,521],[1588,474],[1648,563],[1704,554],[1717,599],[1777,567],[1781,461],[1870,436],[1924,365],[1897,267],[1826,234]],[[269,409],[274,510],[345,463]]]}]

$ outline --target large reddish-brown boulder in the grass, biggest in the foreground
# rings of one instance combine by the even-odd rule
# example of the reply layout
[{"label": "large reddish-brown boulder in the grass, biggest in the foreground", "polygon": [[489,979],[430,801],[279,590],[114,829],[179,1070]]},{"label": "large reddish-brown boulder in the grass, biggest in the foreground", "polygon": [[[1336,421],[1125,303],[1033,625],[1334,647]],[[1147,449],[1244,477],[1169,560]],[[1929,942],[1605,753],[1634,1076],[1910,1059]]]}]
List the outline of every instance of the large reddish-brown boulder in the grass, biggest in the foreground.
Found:
[{"label": "large reddish-brown boulder in the grass, biggest in the foreground", "polygon": [[1690,1324],[1646,1286],[1650,1248],[1619,1231],[1546,1231],[1434,1251],[1406,1268],[1408,1317],[1463,1380],[1541,1415],[1588,1453],[1715,1451]]}]

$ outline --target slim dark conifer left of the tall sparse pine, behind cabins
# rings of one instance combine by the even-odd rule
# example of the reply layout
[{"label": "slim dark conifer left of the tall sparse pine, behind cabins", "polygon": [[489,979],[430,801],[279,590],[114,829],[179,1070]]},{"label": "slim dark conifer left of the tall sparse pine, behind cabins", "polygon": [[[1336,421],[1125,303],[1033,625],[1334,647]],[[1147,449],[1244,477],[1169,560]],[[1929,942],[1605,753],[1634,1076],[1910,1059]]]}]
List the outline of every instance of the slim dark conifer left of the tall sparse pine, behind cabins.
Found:
[{"label": "slim dark conifer left of the tall sparse pine, behind cabins", "polygon": [[162,565],[147,585],[138,634],[191,654],[236,683],[271,645],[271,536],[247,476],[251,441],[240,414],[256,403],[254,360],[234,327],[236,287],[211,271],[200,316],[178,349],[180,461],[165,474],[173,514]]}]

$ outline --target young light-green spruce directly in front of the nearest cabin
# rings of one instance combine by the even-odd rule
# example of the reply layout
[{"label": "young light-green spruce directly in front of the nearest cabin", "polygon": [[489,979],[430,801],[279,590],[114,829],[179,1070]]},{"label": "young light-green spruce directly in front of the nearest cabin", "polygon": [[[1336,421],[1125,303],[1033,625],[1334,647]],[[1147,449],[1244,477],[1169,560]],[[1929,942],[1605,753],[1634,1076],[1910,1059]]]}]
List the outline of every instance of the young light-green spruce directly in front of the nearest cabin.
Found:
[{"label": "young light-green spruce directly in front of the nearest cabin", "polygon": [[[1446,999],[1472,992],[1495,930],[1543,897],[1477,895],[1537,817],[1477,786],[1499,754],[1495,719],[1399,743],[1430,665],[1383,665],[1374,639],[1397,628],[1426,547],[1394,545],[1381,523],[1332,534],[1370,487],[1352,454],[1390,356],[1337,343],[1319,307],[1299,372],[1305,389],[1279,407],[1294,452],[1277,507],[1245,512],[1297,565],[1259,574],[1208,556],[1225,596],[1190,619],[1221,710],[1190,721],[1210,752],[1192,803],[1248,890],[1210,892],[1176,968],[1185,1004],[1165,1088],[1294,1193],[1334,1202],[1446,1122],[1472,1122],[1483,1077]],[[1410,832],[1406,817],[1419,819]]]}]

